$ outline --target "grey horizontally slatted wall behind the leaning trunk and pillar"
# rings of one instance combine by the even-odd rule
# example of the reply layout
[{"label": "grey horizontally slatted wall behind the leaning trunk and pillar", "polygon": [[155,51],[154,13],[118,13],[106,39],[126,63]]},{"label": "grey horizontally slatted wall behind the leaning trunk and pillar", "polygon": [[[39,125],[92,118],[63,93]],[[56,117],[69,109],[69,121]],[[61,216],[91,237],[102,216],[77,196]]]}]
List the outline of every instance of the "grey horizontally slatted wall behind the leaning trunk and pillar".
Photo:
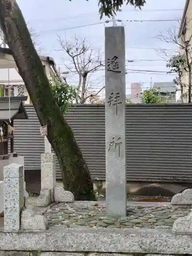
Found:
[{"label": "grey horizontally slatted wall behind the leaning trunk and pillar", "polygon": [[[25,170],[39,170],[44,138],[34,107],[25,108],[29,119],[14,121],[14,151],[25,157]],[[72,106],[65,117],[92,178],[105,180],[105,106]],[[192,104],[128,104],[126,151],[128,181],[191,183]]]}]

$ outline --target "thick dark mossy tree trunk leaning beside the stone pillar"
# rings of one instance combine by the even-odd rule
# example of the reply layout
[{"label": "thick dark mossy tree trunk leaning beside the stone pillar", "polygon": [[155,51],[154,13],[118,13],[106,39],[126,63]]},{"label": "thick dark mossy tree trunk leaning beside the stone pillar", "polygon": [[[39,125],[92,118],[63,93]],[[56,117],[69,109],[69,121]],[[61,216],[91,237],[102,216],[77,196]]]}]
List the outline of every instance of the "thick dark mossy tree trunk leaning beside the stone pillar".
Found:
[{"label": "thick dark mossy tree trunk leaning beside the stone pillar", "polygon": [[0,0],[0,23],[41,125],[60,161],[64,188],[76,200],[95,200],[93,182],[72,129],[62,116],[16,0]]}]

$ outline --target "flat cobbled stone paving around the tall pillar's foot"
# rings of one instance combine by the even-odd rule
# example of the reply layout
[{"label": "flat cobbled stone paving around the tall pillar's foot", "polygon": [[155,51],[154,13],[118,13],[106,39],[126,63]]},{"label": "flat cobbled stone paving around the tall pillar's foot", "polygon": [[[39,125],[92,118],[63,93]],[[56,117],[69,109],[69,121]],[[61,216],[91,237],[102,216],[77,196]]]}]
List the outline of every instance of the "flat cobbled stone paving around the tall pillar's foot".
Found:
[{"label": "flat cobbled stone paving around the tall pillar's foot", "polygon": [[127,217],[106,216],[104,202],[83,202],[53,204],[44,216],[48,228],[145,228],[172,229],[173,222],[191,212],[190,206],[172,206],[170,203],[128,202]]}]

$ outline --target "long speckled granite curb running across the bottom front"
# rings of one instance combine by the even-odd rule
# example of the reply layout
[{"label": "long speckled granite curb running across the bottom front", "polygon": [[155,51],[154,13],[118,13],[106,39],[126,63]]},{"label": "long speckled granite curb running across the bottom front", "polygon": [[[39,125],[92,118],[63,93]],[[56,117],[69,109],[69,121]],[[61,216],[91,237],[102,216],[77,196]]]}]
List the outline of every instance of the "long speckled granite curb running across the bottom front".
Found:
[{"label": "long speckled granite curb running across the bottom front", "polygon": [[192,254],[192,236],[144,229],[66,228],[47,232],[0,232],[0,250]]}]

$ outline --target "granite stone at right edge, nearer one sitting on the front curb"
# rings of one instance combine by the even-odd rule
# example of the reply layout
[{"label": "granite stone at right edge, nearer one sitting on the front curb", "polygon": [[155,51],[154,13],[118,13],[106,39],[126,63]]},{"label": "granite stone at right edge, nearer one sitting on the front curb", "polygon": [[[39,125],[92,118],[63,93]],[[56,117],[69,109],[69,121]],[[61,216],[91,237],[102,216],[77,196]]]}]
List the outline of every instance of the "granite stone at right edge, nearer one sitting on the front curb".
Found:
[{"label": "granite stone at right edge, nearer one sitting on the front curb", "polygon": [[192,234],[192,213],[186,217],[176,219],[173,223],[173,232]]}]

